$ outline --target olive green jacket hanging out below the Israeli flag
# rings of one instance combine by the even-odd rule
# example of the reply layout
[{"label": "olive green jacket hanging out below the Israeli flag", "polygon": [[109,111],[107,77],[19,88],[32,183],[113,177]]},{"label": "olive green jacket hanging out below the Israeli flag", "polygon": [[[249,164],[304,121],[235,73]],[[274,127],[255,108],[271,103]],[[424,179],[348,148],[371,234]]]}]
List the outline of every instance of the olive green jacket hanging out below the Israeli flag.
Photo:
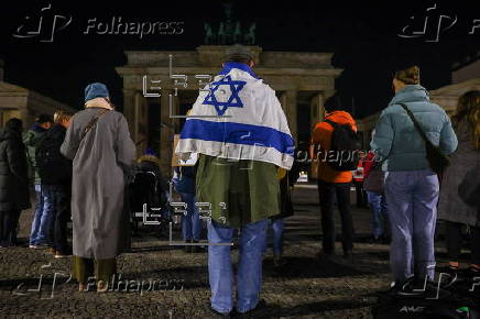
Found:
[{"label": "olive green jacket hanging out below the Israeli flag", "polygon": [[[280,213],[276,166],[249,160],[226,160],[200,154],[197,201],[208,202],[211,218],[239,228]],[[201,212],[206,216],[208,212]]]}]

